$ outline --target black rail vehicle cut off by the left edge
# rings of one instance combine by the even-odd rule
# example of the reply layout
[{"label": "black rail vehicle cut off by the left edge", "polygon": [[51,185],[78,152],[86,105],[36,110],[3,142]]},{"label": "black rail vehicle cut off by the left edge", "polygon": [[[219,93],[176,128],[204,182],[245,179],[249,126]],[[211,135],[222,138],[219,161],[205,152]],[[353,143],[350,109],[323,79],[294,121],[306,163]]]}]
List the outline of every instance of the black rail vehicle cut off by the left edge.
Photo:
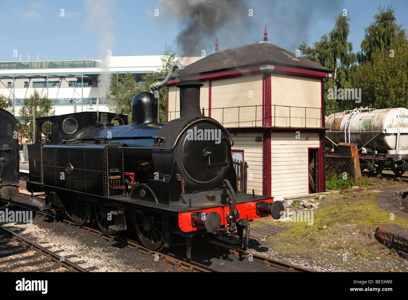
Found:
[{"label": "black rail vehicle cut off by the left edge", "polygon": [[0,195],[11,199],[18,196],[18,136],[14,116],[0,109]]}]

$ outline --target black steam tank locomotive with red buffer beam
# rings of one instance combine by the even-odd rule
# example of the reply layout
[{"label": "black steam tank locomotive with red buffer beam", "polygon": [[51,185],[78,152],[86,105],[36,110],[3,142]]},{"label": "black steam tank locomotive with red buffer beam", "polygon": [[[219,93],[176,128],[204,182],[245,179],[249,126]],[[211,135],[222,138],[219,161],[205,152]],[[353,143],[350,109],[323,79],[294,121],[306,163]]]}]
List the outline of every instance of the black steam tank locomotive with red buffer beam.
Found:
[{"label": "black steam tank locomotive with red buffer beam", "polygon": [[228,234],[246,247],[248,222],[279,218],[282,202],[235,192],[232,138],[203,116],[202,84],[184,80],[180,64],[151,89],[164,86],[175,68],[180,118],[168,123],[158,123],[151,92],[133,98],[131,125],[126,116],[109,112],[37,119],[36,142],[28,146],[27,189],[44,191],[55,215],[66,211],[78,225],[95,218],[106,234],[133,225],[151,250],[170,247],[173,233],[186,237],[188,257],[193,236]]}]

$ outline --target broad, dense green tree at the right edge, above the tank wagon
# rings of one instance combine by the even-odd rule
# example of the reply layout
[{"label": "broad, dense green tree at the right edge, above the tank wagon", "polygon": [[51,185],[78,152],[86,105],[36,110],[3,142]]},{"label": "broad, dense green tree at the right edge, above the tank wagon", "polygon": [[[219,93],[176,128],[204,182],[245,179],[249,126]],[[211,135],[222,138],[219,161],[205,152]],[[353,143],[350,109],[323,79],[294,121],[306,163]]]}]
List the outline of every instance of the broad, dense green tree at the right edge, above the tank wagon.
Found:
[{"label": "broad, dense green tree at the right edge, above the tank wagon", "polygon": [[392,6],[378,9],[366,29],[351,81],[361,88],[361,104],[373,108],[407,107],[408,40]]}]

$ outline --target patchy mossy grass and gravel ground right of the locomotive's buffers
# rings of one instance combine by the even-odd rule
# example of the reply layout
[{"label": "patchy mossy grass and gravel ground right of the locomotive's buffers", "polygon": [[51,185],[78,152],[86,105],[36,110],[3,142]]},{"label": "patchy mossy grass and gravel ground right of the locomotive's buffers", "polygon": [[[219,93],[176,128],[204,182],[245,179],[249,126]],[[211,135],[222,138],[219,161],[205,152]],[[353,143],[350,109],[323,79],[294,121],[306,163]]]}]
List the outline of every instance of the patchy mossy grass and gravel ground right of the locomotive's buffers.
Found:
[{"label": "patchy mossy grass and gravel ground right of the locomotive's buffers", "polygon": [[[386,223],[408,228],[408,220],[399,216],[390,220],[390,213],[375,203],[375,196],[377,193],[368,191],[349,191],[344,197],[339,194],[326,196],[319,208],[313,211],[313,225],[264,219],[261,222],[253,221],[251,226],[265,222],[288,226],[284,233],[272,236],[265,242],[265,246],[279,255],[302,254],[307,259],[341,264],[341,267],[349,270],[359,267],[360,271],[389,271],[386,264],[375,261],[380,256],[383,262],[391,260],[397,266],[394,269],[398,269],[401,258],[375,240],[374,232],[379,224]],[[289,236],[291,240],[283,242],[284,236]],[[344,253],[348,253],[348,262],[341,260]],[[371,267],[367,259],[373,261]]]}]

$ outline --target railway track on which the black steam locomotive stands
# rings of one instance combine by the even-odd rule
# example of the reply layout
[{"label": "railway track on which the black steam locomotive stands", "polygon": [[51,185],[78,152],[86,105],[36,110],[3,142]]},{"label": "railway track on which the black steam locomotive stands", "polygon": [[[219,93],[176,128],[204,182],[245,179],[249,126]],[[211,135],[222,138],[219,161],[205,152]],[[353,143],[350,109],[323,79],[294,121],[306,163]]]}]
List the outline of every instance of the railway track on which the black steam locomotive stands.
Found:
[{"label": "railway track on which the black steam locomotive stands", "polygon": [[[25,197],[25,198],[39,198],[41,200],[44,200],[44,196],[42,195],[34,195],[31,196],[31,194],[29,193],[24,193],[24,192],[20,192],[20,195]],[[1,199],[4,202],[7,202],[4,199]],[[24,209],[30,209],[35,211],[36,213],[40,213],[44,216],[48,216],[49,218],[54,218],[54,216],[52,216],[49,213],[46,213],[44,211],[41,211],[40,209],[35,209],[35,207],[27,207],[26,205],[22,205],[19,202],[16,201],[11,201],[11,203],[13,205],[22,207]],[[175,256],[174,254],[170,254],[170,253],[162,253],[159,251],[151,251],[149,249],[146,249],[145,247],[143,247],[139,242],[135,241],[135,240],[131,240],[129,238],[123,238],[123,237],[119,237],[119,236],[106,236],[104,235],[104,233],[102,233],[101,231],[99,231],[98,229],[94,229],[92,227],[88,227],[88,226],[77,226],[74,222],[70,221],[70,220],[62,220],[61,221],[63,224],[66,224],[70,227],[74,227],[77,228],[79,230],[82,231],[86,231],[88,233],[91,233],[94,236],[98,236],[100,238],[103,238],[105,240],[109,240],[109,241],[117,241],[117,242],[121,242],[122,244],[126,245],[127,247],[130,247],[131,249],[135,249],[136,251],[139,251],[140,253],[144,253],[146,255],[149,256],[153,256],[153,257],[159,257],[161,261],[169,263],[177,268],[181,268],[185,271],[191,271],[191,272],[215,272],[216,270],[211,269],[209,267],[206,267],[202,264],[199,264],[197,262],[193,262],[193,261],[187,261],[184,258],[180,258]],[[228,253],[228,254],[232,254],[234,256],[239,256],[240,258],[250,258],[251,260],[255,261],[255,262],[259,262],[262,263],[268,267],[273,267],[273,268],[277,268],[280,269],[282,271],[289,271],[289,272],[313,272],[313,270],[310,269],[306,269],[303,267],[299,267],[299,266],[295,266],[293,264],[289,264],[283,261],[279,261],[279,260],[275,260],[272,258],[268,258],[265,256],[260,256],[258,254],[255,253],[251,253],[249,251],[241,251],[239,249],[235,249],[234,247],[224,244],[222,242],[218,242],[218,241],[211,241],[208,242],[209,244],[213,245],[215,247],[215,249],[217,249],[218,251],[222,251],[224,253]]]}]

